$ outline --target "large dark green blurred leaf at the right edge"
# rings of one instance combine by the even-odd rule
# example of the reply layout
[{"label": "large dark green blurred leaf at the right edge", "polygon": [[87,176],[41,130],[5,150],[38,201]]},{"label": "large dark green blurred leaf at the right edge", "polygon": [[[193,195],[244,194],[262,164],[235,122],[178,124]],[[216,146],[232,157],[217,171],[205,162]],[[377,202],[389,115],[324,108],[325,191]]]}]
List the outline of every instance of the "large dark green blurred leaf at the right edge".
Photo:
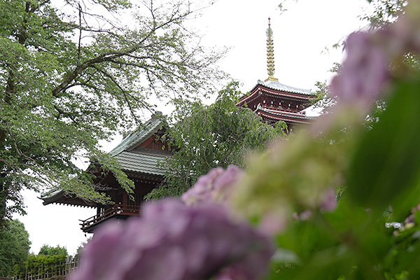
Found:
[{"label": "large dark green blurred leaf at the right edge", "polygon": [[361,139],[348,176],[349,197],[357,204],[379,211],[391,204],[400,215],[402,202],[419,202],[419,89],[420,80],[396,83],[386,111]]}]

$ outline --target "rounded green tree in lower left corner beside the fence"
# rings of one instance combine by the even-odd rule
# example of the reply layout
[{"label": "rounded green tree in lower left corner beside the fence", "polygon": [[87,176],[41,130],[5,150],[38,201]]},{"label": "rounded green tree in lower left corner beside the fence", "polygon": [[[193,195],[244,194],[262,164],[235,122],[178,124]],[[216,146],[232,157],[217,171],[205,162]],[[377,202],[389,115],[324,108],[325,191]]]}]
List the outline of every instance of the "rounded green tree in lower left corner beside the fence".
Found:
[{"label": "rounded green tree in lower left corner beside the fence", "polygon": [[25,225],[19,220],[8,220],[0,230],[0,276],[13,276],[25,271],[31,241]]}]

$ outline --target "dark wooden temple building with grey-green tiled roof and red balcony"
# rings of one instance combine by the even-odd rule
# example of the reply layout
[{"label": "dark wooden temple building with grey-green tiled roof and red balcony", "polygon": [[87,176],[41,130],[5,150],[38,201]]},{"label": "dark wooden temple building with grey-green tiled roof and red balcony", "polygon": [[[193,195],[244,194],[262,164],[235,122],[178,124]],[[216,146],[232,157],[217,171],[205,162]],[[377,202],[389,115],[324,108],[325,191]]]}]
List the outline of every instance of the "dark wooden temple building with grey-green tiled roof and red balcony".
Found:
[{"label": "dark wooden temple building with grey-green tiled roof and red balcony", "polygon": [[136,132],[128,135],[116,148],[110,152],[113,158],[120,163],[128,178],[134,181],[134,201],[130,200],[125,190],[120,187],[115,176],[111,172],[103,175],[102,169],[97,165],[91,165],[87,171],[96,176],[94,184],[102,186],[102,192],[111,197],[115,204],[97,204],[87,202],[78,197],[69,195],[63,190],[52,190],[41,195],[43,204],[66,204],[80,207],[97,209],[97,214],[81,221],[81,229],[84,232],[93,232],[104,221],[113,218],[129,218],[138,216],[143,197],[158,186],[165,175],[166,170],[160,167],[159,162],[170,156],[167,145],[160,141],[163,134],[162,113],[160,116],[152,116],[151,120],[144,123]]}]

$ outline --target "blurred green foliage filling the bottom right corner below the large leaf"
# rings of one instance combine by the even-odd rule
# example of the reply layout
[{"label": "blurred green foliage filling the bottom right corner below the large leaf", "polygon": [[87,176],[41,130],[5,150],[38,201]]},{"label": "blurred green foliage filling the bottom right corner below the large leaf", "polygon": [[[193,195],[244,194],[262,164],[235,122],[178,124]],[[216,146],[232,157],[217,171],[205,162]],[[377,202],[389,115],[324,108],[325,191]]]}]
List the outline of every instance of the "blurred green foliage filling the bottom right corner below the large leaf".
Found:
[{"label": "blurred green foliage filling the bottom right corner below the large leaf", "polygon": [[341,202],[335,212],[295,221],[279,235],[287,258],[277,253],[265,279],[418,279],[419,226],[394,231],[362,207]]}]

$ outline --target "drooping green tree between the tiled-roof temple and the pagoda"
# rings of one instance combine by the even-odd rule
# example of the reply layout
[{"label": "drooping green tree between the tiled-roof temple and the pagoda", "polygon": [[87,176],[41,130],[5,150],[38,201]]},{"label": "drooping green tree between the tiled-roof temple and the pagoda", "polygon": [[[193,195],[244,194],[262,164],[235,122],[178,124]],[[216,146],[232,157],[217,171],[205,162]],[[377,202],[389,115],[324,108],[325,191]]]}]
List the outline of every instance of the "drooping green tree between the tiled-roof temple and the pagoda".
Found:
[{"label": "drooping green tree between the tiled-roof temple and the pagoda", "polygon": [[262,151],[270,141],[286,137],[286,123],[271,126],[251,109],[235,106],[240,96],[238,83],[230,83],[209,106],[200,100],[177,101],[164,136],[174,151],[172,158],[162,162],[169,172],[147,199],[179,196],[216,167],[244,168],[251,151]]}]

